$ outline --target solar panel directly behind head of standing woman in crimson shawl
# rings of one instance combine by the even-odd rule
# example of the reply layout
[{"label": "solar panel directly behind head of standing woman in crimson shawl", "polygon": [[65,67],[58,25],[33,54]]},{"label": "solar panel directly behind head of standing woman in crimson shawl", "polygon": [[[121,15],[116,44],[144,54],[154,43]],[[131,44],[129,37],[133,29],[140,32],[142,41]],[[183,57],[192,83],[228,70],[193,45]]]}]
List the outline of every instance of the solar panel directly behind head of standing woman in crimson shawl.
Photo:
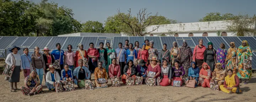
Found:
[{"label": "solar panel directly behind head of standing woman in crimson shawl", "polygon": [[81,43],[84,45],[84,49],[88,50],[90,48],[89,44],[92,42],[94,43],[95,47],[95,44],[97,44],[97,40],[98,36],[84,36]]}]

